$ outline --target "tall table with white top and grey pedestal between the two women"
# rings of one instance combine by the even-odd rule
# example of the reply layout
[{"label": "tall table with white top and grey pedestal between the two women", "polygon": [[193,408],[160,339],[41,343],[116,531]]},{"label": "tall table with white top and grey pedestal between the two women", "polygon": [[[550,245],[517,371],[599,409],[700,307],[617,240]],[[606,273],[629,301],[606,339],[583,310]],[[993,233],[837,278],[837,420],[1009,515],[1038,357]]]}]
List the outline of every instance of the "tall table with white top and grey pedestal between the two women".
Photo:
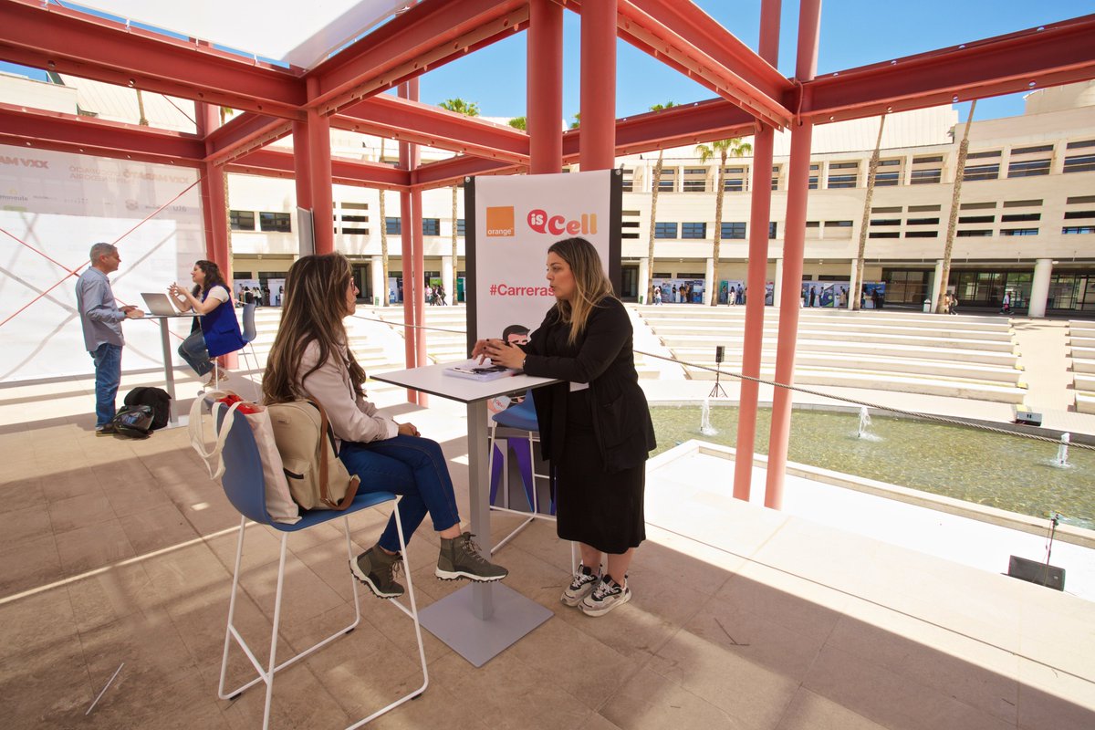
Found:
[{"label": "tall table with white top and grey pedestal between the two women", "polygon": [[[443,374],[453,362],[396,370],[373,380],[459,401],[468,406],[468,491],[472,532],[489,555],[491,484],[487,465],[487,409],[491,398],[557,383],[552,378],[514,375],[487,382]],[[552,612],[502,582],[472,583],[418,612],[422,625],[475,667],[482,667],[544,623]]]}]

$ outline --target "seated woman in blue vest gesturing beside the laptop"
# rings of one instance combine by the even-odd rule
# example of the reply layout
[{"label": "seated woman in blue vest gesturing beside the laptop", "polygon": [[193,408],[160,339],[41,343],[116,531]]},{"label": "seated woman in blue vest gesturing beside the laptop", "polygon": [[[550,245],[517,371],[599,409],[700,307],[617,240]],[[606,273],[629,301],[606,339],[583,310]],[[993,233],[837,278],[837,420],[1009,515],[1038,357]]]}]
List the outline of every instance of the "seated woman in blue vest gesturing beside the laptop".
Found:
[{"label": "seated woman in blue vest gesturing beside the laptop", "polygon": [[[205,376],[214,370],[212,358],[243,349],[246,343],[240,333],[232,294],[228,291],[220,267],[205,259],[195,262],[191,279],[194,289],[187,291],[172,283],[168,292],[180,312],[194,311],[201,315],[195,320],[189,336],[178,346],[178,355],[194,372]],[[228,375],[227,370],[218,369],[207,385],[214,385]]]}]

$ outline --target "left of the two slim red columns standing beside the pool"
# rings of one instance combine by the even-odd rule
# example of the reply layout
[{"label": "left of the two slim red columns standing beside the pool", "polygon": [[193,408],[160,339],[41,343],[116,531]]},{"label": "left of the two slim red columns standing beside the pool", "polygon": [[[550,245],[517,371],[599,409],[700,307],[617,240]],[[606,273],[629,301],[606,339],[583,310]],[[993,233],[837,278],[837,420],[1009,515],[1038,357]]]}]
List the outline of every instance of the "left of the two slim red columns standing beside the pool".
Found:
[{"label": "left of the two slim red columns standing beside the pool", "polygon": [[[773,67],[780,60],[780,0],[764,0],[760,12],[760,57]],[[749,269],[746,275],[746,331],[741,374],[760,378],[764,339],[764,296],[768,283],[768,223],[772,220],[772,147],[775,132],[762,127],[753,137],[753,177],[749,211]],[[734,498],[749,501],[757,444],[760,385],[742,380],[738,398],[738,440],[734,456]]]}]

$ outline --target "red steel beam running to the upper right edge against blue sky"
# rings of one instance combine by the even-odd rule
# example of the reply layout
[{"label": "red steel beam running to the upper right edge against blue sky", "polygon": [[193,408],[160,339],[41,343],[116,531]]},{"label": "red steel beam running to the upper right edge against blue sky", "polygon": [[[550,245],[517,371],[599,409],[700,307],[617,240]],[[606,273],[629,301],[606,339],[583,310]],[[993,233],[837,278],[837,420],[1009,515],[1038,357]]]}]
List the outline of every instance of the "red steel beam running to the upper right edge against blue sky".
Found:
[{"label": "red steel beam running to the upper right edge against blue sky", "polygon": [[883,63],[804,84],[803,114],[815,123],[1095,79],[1095,15]]}]

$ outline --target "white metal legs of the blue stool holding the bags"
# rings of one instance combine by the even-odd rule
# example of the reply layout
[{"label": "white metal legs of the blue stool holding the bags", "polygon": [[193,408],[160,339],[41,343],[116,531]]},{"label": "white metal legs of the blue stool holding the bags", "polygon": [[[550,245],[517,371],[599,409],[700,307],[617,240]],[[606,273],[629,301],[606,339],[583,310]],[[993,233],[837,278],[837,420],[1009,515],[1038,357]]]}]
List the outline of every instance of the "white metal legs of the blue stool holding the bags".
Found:
[{"label": "white metal legs of the blue stool holding the bags", "polygon": [[[415,602],[414,586],[413,586],[412,579],[411,579],[411,566],[410,566],[410,563],[407,561],[407,557],[406,557],[406,542],[405,542],[405,540],[403,537],[403,524],[402,524],[402,521],[400,520],[400,517],[399,517],[399,510],[395,510],[394,514],[395,514],[395,528],[396,528],[396,531],[399,532],[399,536],[400,536],[400,548],[401,548],[401,554],[403,556],[404,572],[406,573],[407,596],[410,599],[411,607],[407,609],[406,606],[404,606],[399,601],[394,601],[393,600],[392,602],[400,609],[400,611],[402,611],[403,613],[407,614],[411,617],[411,619],[414,622],[415,639],[418,642],[418,658],[419,658],[419,661],[422,663],[423,683],[422,683],[420,687],[414,690],[413,692],[407,693],[403,697],[400,697],[399,699],[396,699],[395,702],[391,703],[387,707],[377,710],[376,712],[373,712],[372,715],[370,715],[369,717],[367,717],[367,718],[365,718],[362,720],[358,720],[354,725],[350,725],[347,728],[347,730],[351,730],[353,728],[359,728],[362,725],[365,725],[366,722],[369,722],[370,720],[373,720],[377,717],[380,717],[384,712],[388,712],[389,710],[391,710],[391,709],[393,709],[395,707],[399,707],[400,705],[402,705],[403,703],[407,702],[408,699],[414,699],[415,697],[417,697],[418,695],[420,695],[423,692],[425,692],[427,685],[429,684],[429,675],[428,675],[427,669],[426,669],[426,651],[425,651],[425,648],[423,646],[423,640],[422,640],[422,627],[418,624],[418,609],[417,609],[417,603]],[[242,694],[244,691],[253,687],[254,685],[258,684],[260,682],[265,683],[266,684],[266,703],[265,703],[265,708],[263,710],[263,729],[266,730],[266,728],[268,728],[268,726],[269,726],[270,705],[272,705],[272,702],[273,702],[273,698],[274,698],[274,675],[277,672],[279,672],[283,669],[285,669],[286,667],[288,667],[288,665],[290,665],[290,664],[299,661],[300,659],[303,659],[304,657],[311,654],[312,652],[316,651],[318,649],[321,649],[322,647],[326,646],[331,641],[334,641],[335,639],[339,638],[341,636],[345,636],[346,634],[348,634],[351,630],[354,630],[354,628],[361,621],[361,603],[360,603],[360,598],[358,595],[357,581],[354,580],[354,577],[351,575],[350,578],[349,578],[349,580],[350,580],[350,584],[351,584],[353,591],[354,591],[354,621],[353,621],[353,623],[350,623],[348,626],[345,626],[345,627],[338,629],[337,631],[335,631],[334,634],[332,634],[327,638],[319,641],[318,644],[315,644],[311,648],[306,649],[306,650],[299,652],[298,654],[296,654],[292,658],[290,658],[290,659],[281,662],[280,664],[277,664],[276,661],[277,661],[278,629],[280,627],[280,621],[281,621],[281,593],[283,593],[283,588],[284,588],[284,584],[285,584],[285,557],[286,557],[287,544],[288,544],[288,536],[289,536],[288,532],[283,532],[281,533],[281,551],[280,551],[279,560],[278,560],[277,589],[276,589],[275,599],[274,599],[274,626],[273,626],[273,628],[270,630],[270,657],[269,657],[269,664],[268,664],[268,667],[266,669],[264,669],[263,665],[262,665],[262,663],[255,657],[254,652],[251,650],[251,647],[247,646],[246,641],[244,641],[243,637],[241,636],[239,629],[237,629],[235,625],[233,624],[233,618],[235,616],[235,595],[237,595],[237,591],[239,589],[239,583],[240,583],[240,565],[241,565],[242,558],[243,558],[243,538],[244,538],[244,533],[246,531],[246,522],[247,522],[246,518],[243,518],[240,521],[240,538],[237,542],[235,570],[232,573],[232,593],[231,593],[231,596],[229,598],[229,604],[228,604],[228,627],[227,627],[227,629],[224,631],[224,653],[223,653],[223,657],[221,658],[220,683],[218,684],[218,687],[217,687],[217,695],[221,699],[233,699],[237,696],[239,696],[240,694]],[[344,518],[343,522],[344,522],[345,532],[346,532],[346,554],[348,556],[348,559],[353,559],[354,558],[354,548],[353,548],[353,543],[350,542],[350,537],[349,537],[349,518],[348,517]],[[251,661],[251,664],[255,668],[255,671],[258,673],[258,676],[256,676],[255,679],[251,680],[250,682],[247,682],[247,683],[245,683],[245,684],[237,687],[235,690],[226,692],[224,691],[224,679],[226,679],[226,674],[228,672],[228,652],[229,652],[229,649],[231,648],[231,644],[232,644],[232,639],[233,638],[235,639],[235,642],[240,645],[240,648],[243,649],[243,652],[246,654],[247,659]]]}]

